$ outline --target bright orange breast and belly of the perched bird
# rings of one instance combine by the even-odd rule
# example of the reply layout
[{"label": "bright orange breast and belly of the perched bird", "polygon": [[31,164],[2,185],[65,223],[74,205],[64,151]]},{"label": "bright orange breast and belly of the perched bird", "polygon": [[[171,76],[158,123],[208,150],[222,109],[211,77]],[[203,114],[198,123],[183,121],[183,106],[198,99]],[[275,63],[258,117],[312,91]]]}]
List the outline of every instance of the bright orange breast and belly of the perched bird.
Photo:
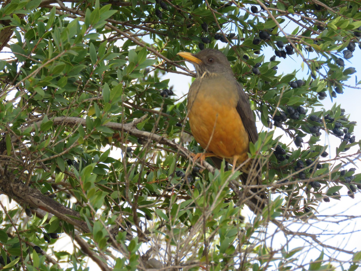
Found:
[{"label": "bright orange breast and belly of the perched bird", "polygon": [[249,138],[236,110],[236,98],[200,91],[196,97],[188,96],[188,118],[203,149],[222,158],[239,155],[238,161],[243,162],[248,157]]}]

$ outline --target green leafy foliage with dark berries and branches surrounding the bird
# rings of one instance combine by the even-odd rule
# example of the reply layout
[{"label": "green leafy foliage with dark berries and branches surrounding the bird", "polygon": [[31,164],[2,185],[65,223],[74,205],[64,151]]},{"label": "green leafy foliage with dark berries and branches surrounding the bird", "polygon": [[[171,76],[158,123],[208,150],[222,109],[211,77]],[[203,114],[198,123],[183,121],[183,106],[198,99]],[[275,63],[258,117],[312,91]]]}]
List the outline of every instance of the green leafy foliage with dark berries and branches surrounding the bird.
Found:
[{"label": "green leafy foliage with dark berries and branches surrounding the bird", "polygon": [[[350,197],[361,188],[361,175],[343,169],[360,155],[355,122],[336,104],[319,109],[355,73],[348,59],[361,48],[360,7],[329,0],[3,3],[1,49],[11,54],[0,60],[0,263],[83,270],[90,257],[101,270],[355,270],[360,252],[289,226],[316,218],[319,203],[340,198],[343,187]],[[194,76],[177,53],[205,47],[222,48],[264,125],[250,157],[265,161],[270,201],[249,219],[241,173],[190,159],[203,150],[191,137],[186,101],[164,78]],[[293,68],[277,72],[292,59],[306,77]],[[339,144],[324,146],[325,135]],[[262,234],[269,224],[353,258],[337,263],[322,250],[297,262],[307,250],[273,248]],[[52,250],[56,233],[78,247]]]}]

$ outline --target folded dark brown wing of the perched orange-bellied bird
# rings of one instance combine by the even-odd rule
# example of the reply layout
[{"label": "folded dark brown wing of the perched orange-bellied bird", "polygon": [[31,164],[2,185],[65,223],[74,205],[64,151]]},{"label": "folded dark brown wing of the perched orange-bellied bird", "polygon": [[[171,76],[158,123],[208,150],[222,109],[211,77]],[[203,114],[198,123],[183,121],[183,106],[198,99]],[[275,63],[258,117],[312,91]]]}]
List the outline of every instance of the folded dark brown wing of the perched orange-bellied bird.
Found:
[{"label": "folded dark brown wing of the perched orange-bellied bird", "polygon": [[249,141],[251,141],[252,143],[255,143],[258,139],[258,133],[257,133],[257,128],[256,128],[256,121],[255,121],[255,118],[253,117],[253,112],[251,110],[251,106],[249,105],[248,96],[247,96],[247,94],[244,93],[244,91],[243,91],[242,87],[239,85],[239,83],[236,82],[236,84],[237,84],[237,90],[238,90],[238,95],[239,95],[236,109],[237,109],[239,116],[242,119],[244,129],[248,133]]}]

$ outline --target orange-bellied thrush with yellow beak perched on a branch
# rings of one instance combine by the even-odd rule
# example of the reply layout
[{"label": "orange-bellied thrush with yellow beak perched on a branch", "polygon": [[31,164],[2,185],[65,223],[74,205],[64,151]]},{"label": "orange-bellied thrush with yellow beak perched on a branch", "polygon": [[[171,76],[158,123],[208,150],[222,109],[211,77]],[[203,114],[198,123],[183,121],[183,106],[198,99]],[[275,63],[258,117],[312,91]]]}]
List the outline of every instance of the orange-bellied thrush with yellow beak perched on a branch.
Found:
[{"label": "orange-bellied thrush with yellow beak perched on a branch", "polygon": [[[203,155],[203,159],[208,156],[225,159],[233,169],[241,166],[243,184],[260,185],[259,163],[256,166],[255,161],[247,163],[249,142],[255,143],[258,139],[255,117],[227,57],[210,48],[197,54],[179,52],[177,55],[190,61],[196,69],[196,79],[187,96],[188,120],[193,137],[206,153],[195,158]],[[263,209],[264,191],[250,190],[247,197],[258,210]]]}]

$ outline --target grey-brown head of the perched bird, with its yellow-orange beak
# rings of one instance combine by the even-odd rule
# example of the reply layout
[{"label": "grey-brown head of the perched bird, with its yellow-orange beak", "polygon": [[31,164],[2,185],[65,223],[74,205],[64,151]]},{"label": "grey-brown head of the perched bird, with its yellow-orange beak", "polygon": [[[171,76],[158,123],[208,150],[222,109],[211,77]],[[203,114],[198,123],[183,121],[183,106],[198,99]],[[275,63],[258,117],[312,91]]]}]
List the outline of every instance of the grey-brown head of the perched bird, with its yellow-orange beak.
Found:
[{"label": "grey-brown head of the perched bird, with its yellow-orange beak", "polygon": [[197,77],[233,74],[227,57],[219,50],[207,48],[197,54],[179,52],[177,55],[192,62],[196,68]]}]

